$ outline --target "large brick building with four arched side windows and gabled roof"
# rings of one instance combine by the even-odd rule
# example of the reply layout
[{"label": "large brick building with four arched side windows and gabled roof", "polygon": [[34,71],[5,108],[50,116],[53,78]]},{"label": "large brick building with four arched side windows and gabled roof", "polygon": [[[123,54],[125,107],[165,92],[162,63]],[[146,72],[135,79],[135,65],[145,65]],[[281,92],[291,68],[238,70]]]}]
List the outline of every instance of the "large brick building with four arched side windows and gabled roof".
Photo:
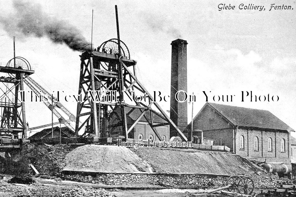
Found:
[{"label": "large brick building with four arched side windows and gabled roof", "polygon": [[291,165],[292,129],[269,111],[206,103],[193,119],[193,135],[201,136],[197,130],[244,158]]}]

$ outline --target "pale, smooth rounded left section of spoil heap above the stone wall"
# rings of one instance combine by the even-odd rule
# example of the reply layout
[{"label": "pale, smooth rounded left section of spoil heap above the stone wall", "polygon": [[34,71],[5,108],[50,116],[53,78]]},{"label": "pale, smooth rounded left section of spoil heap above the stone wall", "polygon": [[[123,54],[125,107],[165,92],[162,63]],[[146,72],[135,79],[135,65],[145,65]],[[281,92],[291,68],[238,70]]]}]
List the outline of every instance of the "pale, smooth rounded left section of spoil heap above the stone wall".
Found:
[{"label": "pale, smooth rounded left section of spoil heap above the stone wall", "polygon": [[145,160],[126,147],[84,145],[74,149],[65,158],[65,171],[139,173],[149,172]]}]

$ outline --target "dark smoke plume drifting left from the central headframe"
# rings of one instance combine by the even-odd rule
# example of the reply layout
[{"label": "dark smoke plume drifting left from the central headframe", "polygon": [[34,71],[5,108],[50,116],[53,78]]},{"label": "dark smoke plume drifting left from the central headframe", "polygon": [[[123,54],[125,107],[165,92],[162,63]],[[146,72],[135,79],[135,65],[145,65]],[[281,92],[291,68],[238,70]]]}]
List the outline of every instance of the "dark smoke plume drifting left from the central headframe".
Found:
[{"label": "dark smoke plume drifting left from the central headframe", "polygon": [[49,17],[42,11],[40,4],[14,0],[13,7],[15,9],[13,13],[0,15],[3,29],[12,36],[47,37],[52,42],[64,43],[73,50],[80,50],[89,44],[76,27],[67,21]]}]

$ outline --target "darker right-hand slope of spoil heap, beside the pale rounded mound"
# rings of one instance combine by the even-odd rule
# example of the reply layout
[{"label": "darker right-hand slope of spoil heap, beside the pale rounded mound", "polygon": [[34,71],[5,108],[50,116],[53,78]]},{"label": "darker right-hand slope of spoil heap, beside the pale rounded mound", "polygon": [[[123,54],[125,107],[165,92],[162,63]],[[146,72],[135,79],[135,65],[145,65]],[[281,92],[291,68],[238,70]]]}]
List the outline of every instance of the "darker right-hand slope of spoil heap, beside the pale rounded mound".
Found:
[{"label": "darker right-hand slope of spoil heap, beside the pale rounded mound", "polygon": [[258,170],[247,160],[229,152],[149,147],[131,150],[158,173],[251,175]]}]

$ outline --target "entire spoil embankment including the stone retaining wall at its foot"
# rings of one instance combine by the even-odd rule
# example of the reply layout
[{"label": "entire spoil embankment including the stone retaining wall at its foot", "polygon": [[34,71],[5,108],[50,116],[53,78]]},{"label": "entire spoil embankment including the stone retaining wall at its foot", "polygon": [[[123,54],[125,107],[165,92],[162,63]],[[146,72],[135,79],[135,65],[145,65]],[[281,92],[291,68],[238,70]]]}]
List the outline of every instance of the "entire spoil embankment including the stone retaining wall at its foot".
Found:
[{"label": "entire spoil embankment including the stone retaining wall at its foot", "polygon": [[65,164],[62,179],[106,185],[214,188],[225,186],[230,175],[249,175],[256,187],[275,183],[273,175],[242,157],[218,151],[84,145],[67,154]]}]

